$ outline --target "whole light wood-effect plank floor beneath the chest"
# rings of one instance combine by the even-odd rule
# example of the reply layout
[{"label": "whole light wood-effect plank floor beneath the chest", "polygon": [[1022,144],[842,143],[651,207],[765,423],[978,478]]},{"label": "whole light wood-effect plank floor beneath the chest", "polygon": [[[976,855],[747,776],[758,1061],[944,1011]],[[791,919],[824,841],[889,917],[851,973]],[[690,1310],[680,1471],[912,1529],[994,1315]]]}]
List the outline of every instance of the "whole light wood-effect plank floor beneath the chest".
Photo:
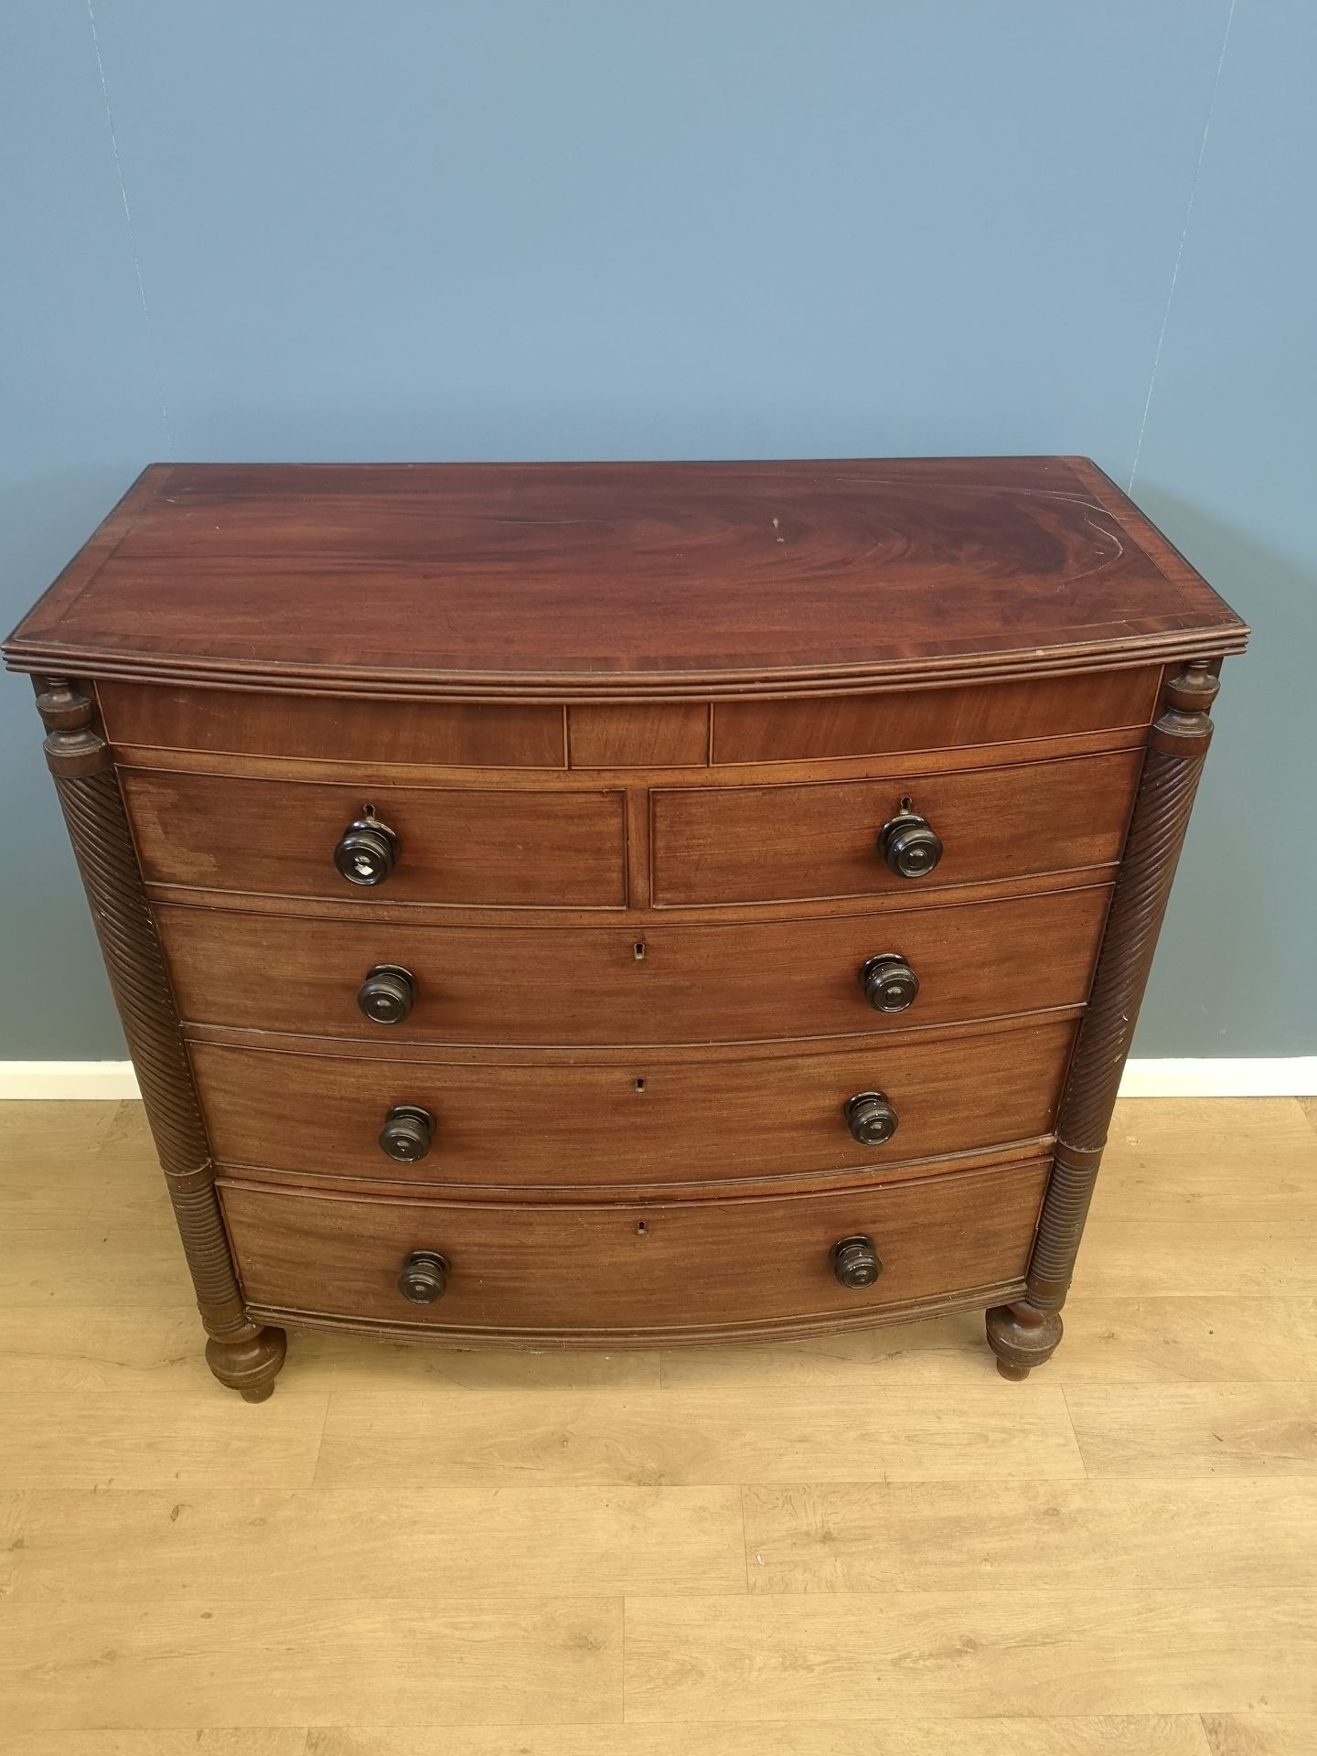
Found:
[{"label": "whole light wood-effect plank floor beneath the chest", "polygon": [[1122,1106],[1055,1361],[202,1364],[137,1105],[0,1105],[4,1756],[1313,1756],[1317,1112]]}]

